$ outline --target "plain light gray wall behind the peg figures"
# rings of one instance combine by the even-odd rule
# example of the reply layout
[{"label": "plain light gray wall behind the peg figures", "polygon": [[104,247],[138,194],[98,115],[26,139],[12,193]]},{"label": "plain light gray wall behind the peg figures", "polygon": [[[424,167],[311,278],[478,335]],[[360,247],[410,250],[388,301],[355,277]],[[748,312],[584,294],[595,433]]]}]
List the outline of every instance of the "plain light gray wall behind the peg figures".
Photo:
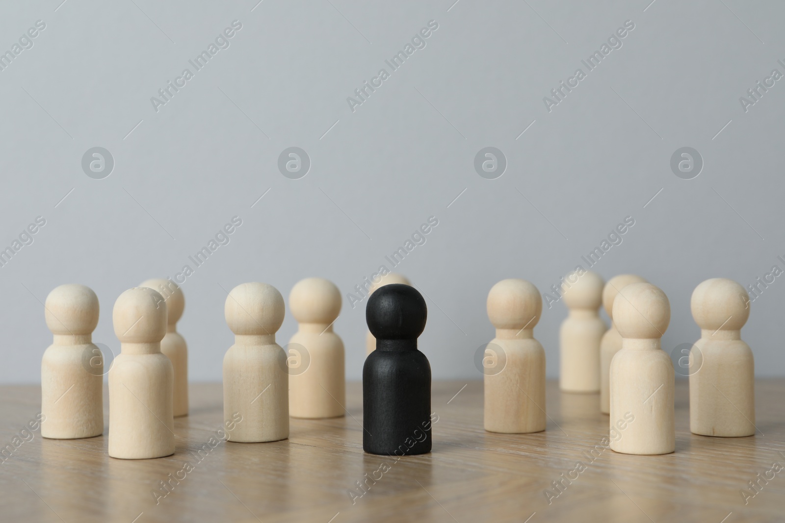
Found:
[{"label": "plain light gray wall behind the peg figures", "polygon": [[[320,275],[349,292],[429,216],[439,225],[396,271],[425,293],[420,346],[436,379],[480,377],[495,281],[546,292],[625,216],[635,225],[594,269],[666,292],[666,350],[699,336],[689,297],[700,281],[748,285],[785,268],[785,80],[747,112],[739,102],[785,73],[780,2],[60,2],[6,3],[0,16],[0,51],[46,24],[0,71],[0,244],[46,219],[0,268],[2,382],[39,380],[51,343],[41,302],[55,286],[97,292],[93,339],[116,351],[120,292],[173,277],[232,216],[243,225],[231,242],[182,285],[192,380],[221,379],[233,340],[224,289],[265,281],[286,297]],[[150,98],[194,71],[188,60],[232,20],[243,27],[228,49],[156,112]],[[425,48],[391,71],[385,60],[429,20],[439,27]],[[581,60],[625,20],[635,28],[622,47],[549,112],[543,97],[587,71]],[[390,78],[352,112],[346,98],[382,67]],[[97,146],[115,161],[102,180],[81,165]],[[292,146],[312,162],[299,180],[277,167]],[[495,180],[473,166],[488,146],[508,162]],[[692,180],[670,168],[685,146],[704,162]],[[743,330],[760,376],[785,375],[783,305],[780,277]],[[350,379],[363,311],[345,300],[335,324]],[[288,314],[279,343],[296,329]],[[535,329],[549,376],[566,314],[546,307]]]}]

